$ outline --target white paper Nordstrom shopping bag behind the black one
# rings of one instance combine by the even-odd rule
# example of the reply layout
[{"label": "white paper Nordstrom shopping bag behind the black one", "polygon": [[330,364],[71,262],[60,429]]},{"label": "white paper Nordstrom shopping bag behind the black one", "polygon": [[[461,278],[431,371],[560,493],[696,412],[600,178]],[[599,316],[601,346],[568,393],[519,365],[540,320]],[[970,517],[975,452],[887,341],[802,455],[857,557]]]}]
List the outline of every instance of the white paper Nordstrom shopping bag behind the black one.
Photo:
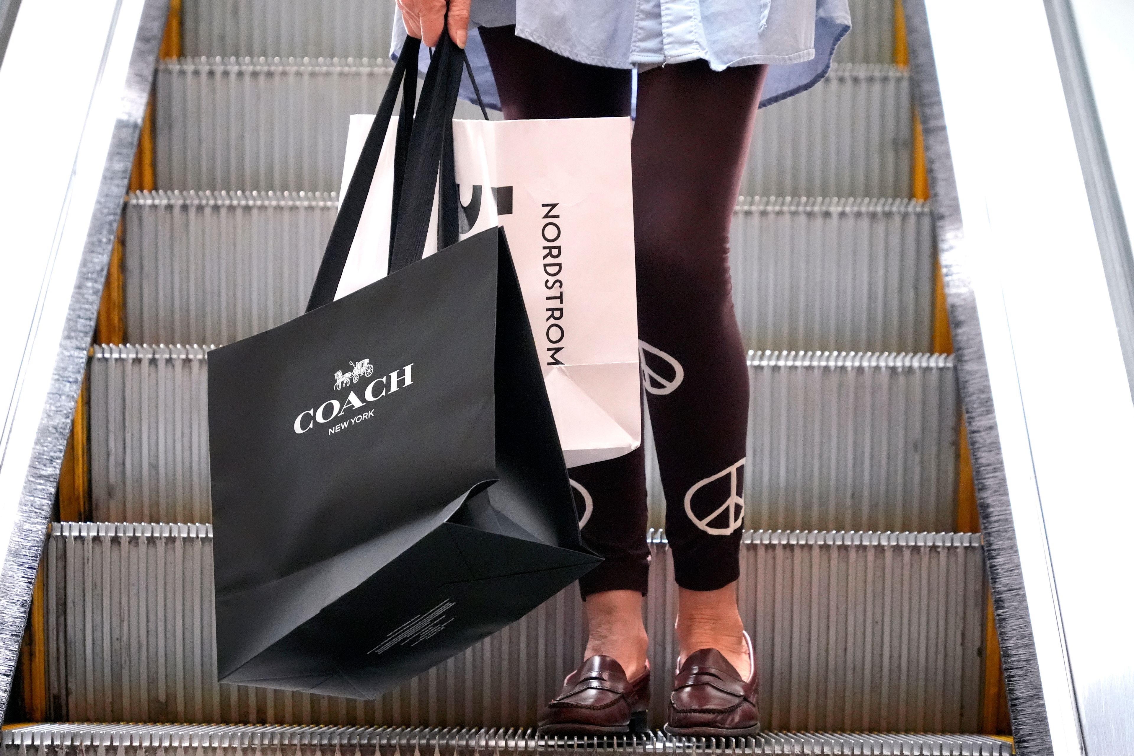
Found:
[{"label": "white paper Nordstrom shopping bag behind the black one", "polygon": [[[340,197],[372,121],[350,118]],[[386,275],[396,121],[336,298]],[[628,118],[452,122],[460,237],[497,224],[508,235],[568,467],[642,440],[632,128]]]}]

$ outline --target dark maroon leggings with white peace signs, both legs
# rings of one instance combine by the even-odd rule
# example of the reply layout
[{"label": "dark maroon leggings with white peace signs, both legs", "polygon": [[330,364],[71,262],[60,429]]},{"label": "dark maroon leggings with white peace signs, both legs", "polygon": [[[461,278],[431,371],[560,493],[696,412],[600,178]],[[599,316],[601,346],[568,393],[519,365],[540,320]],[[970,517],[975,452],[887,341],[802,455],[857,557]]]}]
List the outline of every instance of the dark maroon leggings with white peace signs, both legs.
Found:
[{"label": "dark maroon leggings with white peace signs, both legs", "polygon": [[[481,28],[505,118],[628,116],[631,71],[579,63]],[[739,576],[748,373],[733,311],[728,229],[767,66],[704,61],[638,77],[631,154],[638,337],[666,492],[677,585],[722,588]],[[606,561],[583,596],[646,592],[642,449],[570,470],[584,542]]]}]

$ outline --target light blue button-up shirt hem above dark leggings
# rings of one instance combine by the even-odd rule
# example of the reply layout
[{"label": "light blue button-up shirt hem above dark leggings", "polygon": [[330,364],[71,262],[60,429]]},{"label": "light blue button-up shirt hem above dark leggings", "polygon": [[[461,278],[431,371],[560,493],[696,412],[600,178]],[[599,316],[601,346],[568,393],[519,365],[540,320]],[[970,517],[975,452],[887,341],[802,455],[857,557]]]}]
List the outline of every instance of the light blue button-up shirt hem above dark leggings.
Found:
[{"label": "light blue button-up shirt hem above dark leggings", "polygon": [[[691,60],[714,70],[768,63],[760,107],[814,86],[850,31],[847,0],[473,0],[472,26],[516,25],[516,35],[566,58],[640,71]],[[396,15],[390,57],[405,39]],[[466,46],[484,104],[500,109],[480,34]],[[422,56],[424,71],[429,65]],[[472,100],[467,77],[462,96]]]}]

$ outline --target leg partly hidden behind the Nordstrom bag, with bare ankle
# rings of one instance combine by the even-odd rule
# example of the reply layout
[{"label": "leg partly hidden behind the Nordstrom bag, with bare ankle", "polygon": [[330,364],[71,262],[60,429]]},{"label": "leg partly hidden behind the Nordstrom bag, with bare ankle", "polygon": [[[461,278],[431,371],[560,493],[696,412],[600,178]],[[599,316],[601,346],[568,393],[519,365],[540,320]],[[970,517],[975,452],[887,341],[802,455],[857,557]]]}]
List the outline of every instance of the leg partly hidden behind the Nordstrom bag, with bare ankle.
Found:
[{"label": "leg partly hidden behind the Nordstrom bag, with bare ankle", "polygon": [[[482,27],[481,39],[507,119],[628,116],[631,73],[587,66],[515,35]],[[646,663],[642,596],[650,551],[645,543],[642,450],[570,470],[583,542],[606,561],[579,580],[587,617],[585,659],[602,654],[635,679]]]}]

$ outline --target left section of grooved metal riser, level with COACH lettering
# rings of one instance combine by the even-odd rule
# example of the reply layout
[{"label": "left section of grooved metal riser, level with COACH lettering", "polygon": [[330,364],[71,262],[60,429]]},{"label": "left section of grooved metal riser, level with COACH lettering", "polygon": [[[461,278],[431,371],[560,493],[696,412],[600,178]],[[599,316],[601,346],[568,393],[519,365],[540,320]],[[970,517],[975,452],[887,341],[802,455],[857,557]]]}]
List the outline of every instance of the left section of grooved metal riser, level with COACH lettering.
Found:
[{"label": "left section of grooved metal riser, level with COACH lettering", "polygon": [[90,402],[95,519],[212,520],[205,351],[94,347]]}]

